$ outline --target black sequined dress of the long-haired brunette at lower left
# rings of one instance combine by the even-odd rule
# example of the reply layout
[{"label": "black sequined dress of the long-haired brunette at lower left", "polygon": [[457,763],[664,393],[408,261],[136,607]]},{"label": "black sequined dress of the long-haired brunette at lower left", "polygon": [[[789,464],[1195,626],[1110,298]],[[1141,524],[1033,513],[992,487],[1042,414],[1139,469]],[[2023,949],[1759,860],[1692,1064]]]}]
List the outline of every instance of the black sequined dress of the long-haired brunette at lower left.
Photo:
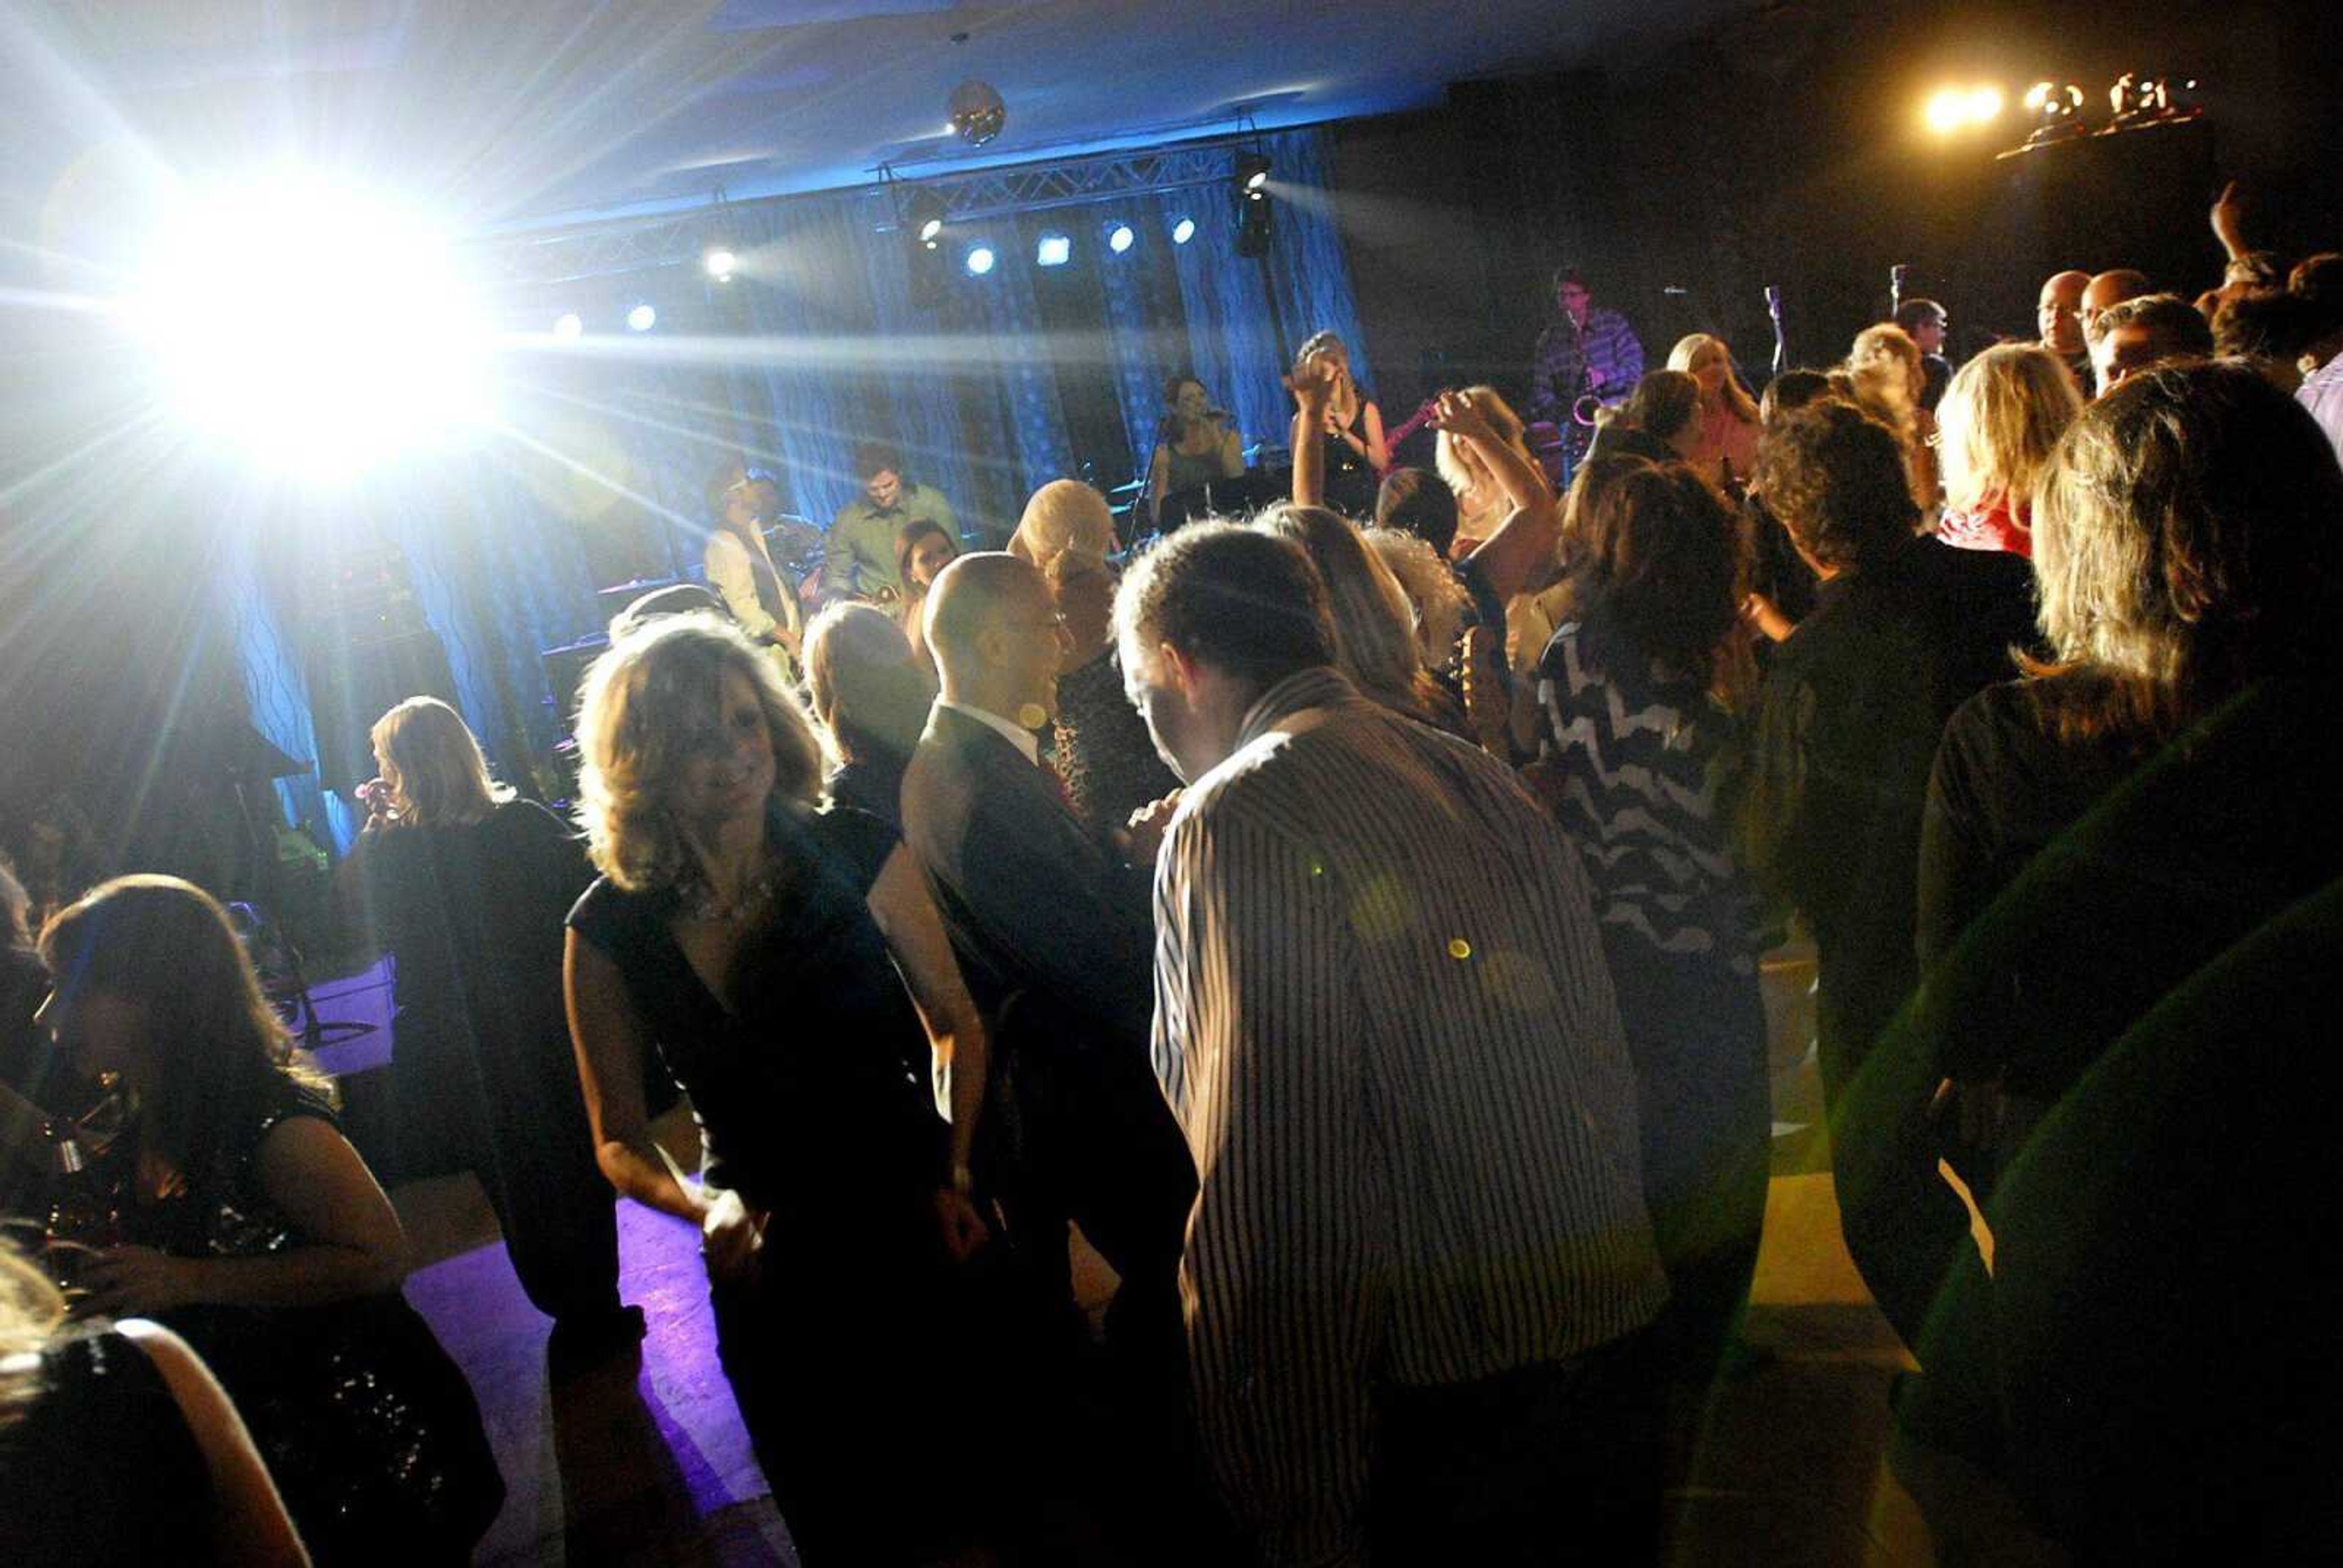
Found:
[{"label": "black sequined dress of the long-haired brunette at lower left", "polygon": [[[309,1242],[269,1200],[258,1155],[291,1116],[333,1111],[274,1078],[232,1132],[155,1202],[127,1202],[127,1240],[178,1256],[255,1259]],[[115,1146],[131,1151],[136,1132]],[[457,1563],[497,1519],[504,1477],[480,1406],[398,1291],[314,1308],[187,1305],[155,1315],[211,1366],[251,1427],[319,1563]]]}]

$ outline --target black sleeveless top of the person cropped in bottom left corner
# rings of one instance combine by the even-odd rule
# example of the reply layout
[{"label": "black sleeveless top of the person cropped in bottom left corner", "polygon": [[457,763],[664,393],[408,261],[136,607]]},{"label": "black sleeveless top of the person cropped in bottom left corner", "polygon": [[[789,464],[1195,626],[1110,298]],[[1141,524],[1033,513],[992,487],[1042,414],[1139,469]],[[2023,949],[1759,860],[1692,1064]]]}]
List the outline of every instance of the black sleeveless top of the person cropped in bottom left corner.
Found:
[{"label": "black sleeveless top of the person cropped in bottom left corner", "polygon": [[9,1568],[143,1568],[201,1559],[211,1472],[162,1371],[110,1327],[70,1331],[33,1397],[0,1423],[0,1519]]}]

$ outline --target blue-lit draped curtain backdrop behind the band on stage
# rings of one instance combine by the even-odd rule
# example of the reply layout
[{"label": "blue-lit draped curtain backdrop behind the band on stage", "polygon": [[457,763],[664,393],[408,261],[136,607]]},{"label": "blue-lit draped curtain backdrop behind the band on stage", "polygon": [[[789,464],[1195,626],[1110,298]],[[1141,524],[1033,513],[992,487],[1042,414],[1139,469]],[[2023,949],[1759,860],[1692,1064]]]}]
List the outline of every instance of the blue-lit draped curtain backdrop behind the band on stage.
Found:
[{"label": "blue-lit draped curtain backdrop behind the band on stage", "polygon": [[[1277,204],[1265,260],[1235,255],[1228,185],[1118,197],[958,225],[944,298],[923,309],[909,237],[879,230],[890,209],[865,190],[733,209],[743,272],[731,284],[665,267],[562,300],[555,309],[590,316],[588,335],[518,356],[494,431],[363,506],[363,527],[403,548],[457,703],[501,776],[558,785],[546,764],[569,715],[541,649],[602,630],[616,605],[597,588],[698,574],[703,488],[731,457],[780,471],[787,506],[827,525],[860,488],[853,445],[890,441],[907,476],[937,485],[972,537],[998,539],[1040,483],[1087,464],[1113,488],[1143,466],[1174,373],[1202,377],[1249,441],[1272,443],[1291,410],[1279,375],[1312,330],[1343,335],[1373,387],[1340,204],[1324,192],[1324,136],[1282,131],[1261,148],[1279,185],[1317,188]],[[1195,237],[1174,246],[1181,218]],[[1134,230],[1122,255],[1104,239],[1118,220]],[[1071,267],[1094,286],[1036,274],[1045,227],[1073,239]],[[961,267],[979,239],[998,253],[989,277]],[[658,309],[656,330],[616,323],[637,300]],[[312,619],[319,572],[269,572],[244,555],[225,591],[260,729],[312,757],[293,628]],[[354,820],[314,780],[279,795],[347,846]]]}]

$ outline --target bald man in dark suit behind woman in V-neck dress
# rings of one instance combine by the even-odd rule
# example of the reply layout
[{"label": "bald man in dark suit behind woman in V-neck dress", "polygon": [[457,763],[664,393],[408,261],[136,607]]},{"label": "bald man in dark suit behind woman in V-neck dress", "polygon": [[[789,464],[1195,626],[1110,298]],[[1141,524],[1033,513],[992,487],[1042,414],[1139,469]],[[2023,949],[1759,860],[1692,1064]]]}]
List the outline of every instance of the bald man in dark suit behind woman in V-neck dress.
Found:
[{"label": "bald man in dark suit behind woman in V-neck dress", "polygon": [[993,1024],[979,1179],[1061,1298],[1080,1223],[1122,1275],[1108,1341],[1176,1364],[1195,1165],[1148,1062],[1150,877],[1089,837],[1040,764],[1066,652],[1047,584],[1015,555],[963,555],[928,595],[928,647],[942,696],[902,818]]}]

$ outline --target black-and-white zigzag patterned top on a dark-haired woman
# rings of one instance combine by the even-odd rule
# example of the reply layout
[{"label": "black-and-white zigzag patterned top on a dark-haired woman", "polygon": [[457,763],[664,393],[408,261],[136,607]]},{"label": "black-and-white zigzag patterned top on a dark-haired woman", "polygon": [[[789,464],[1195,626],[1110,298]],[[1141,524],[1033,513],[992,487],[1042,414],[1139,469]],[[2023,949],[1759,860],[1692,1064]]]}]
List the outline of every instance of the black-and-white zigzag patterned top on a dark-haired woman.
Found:
[{"label": "black-and-white zigzag patterned top on a dark-haired woman", "polygon": [[1553,630],[1537,705],[1525,776],[1579,846],[1603,928],[1755,973],[1755,902],[1717,809],[1729,724],[1708,694],[1652,670],[1596,609]]}]

